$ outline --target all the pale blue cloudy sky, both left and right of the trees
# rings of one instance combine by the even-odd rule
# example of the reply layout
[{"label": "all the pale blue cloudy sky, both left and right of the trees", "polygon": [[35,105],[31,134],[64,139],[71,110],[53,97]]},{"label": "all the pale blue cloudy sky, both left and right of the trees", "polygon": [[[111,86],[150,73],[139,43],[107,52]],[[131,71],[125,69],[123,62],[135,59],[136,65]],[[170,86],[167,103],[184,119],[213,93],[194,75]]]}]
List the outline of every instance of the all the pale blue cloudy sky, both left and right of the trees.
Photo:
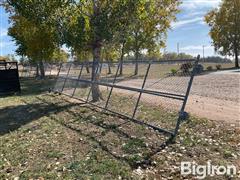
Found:
[{"label": "all the pale blue cloudy sky, both left and right of the trees", "polygon": [[[204,15],[213,8],[218,7],[221,0],[182,0],[181,12],[177,15],[177,21],[172,23],[168,32],[167,52],[184,52],[197,56],[215,55],[209,37],[209,27],[204,22]],[[16,46],[11,37],[7,35],[9,27],[8,14],[0,7],[0,55],[14,54]]]}]

